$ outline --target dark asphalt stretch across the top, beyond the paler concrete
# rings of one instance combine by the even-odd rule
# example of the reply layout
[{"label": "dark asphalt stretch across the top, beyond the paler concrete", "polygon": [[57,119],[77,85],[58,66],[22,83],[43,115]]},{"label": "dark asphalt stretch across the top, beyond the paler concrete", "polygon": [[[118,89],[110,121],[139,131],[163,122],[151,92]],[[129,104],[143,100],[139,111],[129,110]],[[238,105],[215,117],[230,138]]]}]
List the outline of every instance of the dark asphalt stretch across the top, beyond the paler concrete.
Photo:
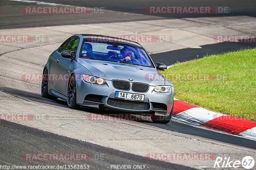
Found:
[{"label": "dark asphalt stretch across the top, beyond the paler concrete", "polygon": [[[77,25],[77,24],[96,24],[112,23],[125,21],[139,21],[152,19],[170,19],[170,18],[196,18],[196,17],[219,17],[219,16],[256,16],[256,1],[253,0],[45,0],[43,2],[57,3],[64,5],[103,7],[104,13],[91,14],[24,14],[21,9],[25,6],[48,6],[37,5],[35,3],[22,3],[19,1],[0,0],[0,28],[24,28],[40,27],[54,25]],[[213,6],[229,7],[230,13],[213,14],[148,14],[148,6]]]}]

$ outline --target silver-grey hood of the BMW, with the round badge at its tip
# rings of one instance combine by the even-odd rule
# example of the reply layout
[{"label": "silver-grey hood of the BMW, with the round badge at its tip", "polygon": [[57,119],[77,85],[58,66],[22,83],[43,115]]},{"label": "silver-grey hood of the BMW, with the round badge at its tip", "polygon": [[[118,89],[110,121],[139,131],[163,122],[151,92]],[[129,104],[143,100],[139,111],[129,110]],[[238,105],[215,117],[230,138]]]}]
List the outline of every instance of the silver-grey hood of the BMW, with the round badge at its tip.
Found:
[{"label": "silver-grey hood of the BMW, with the round badge at its tip", "polygon": [[150,86],[165,84],[164,76],[156,68],[90,59],[79,59],[79,63],[87,68],[92,75],[105,80],[129,81],[129,78],[132,78],[133,81],[130,82],[141,82]]}]

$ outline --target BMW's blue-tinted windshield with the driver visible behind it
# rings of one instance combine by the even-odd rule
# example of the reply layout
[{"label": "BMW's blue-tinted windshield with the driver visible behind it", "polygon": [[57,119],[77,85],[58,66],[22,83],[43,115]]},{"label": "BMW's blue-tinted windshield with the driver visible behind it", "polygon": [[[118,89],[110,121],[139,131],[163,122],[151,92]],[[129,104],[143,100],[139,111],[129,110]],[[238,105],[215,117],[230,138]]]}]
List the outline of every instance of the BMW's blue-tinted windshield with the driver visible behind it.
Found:
[{"label": "BMW's blue-tinted windshield with the driver visible behind it", "polygon": [[90,42],[84,39],[80,58],[153,67],[142,47],[122,42]]}]

